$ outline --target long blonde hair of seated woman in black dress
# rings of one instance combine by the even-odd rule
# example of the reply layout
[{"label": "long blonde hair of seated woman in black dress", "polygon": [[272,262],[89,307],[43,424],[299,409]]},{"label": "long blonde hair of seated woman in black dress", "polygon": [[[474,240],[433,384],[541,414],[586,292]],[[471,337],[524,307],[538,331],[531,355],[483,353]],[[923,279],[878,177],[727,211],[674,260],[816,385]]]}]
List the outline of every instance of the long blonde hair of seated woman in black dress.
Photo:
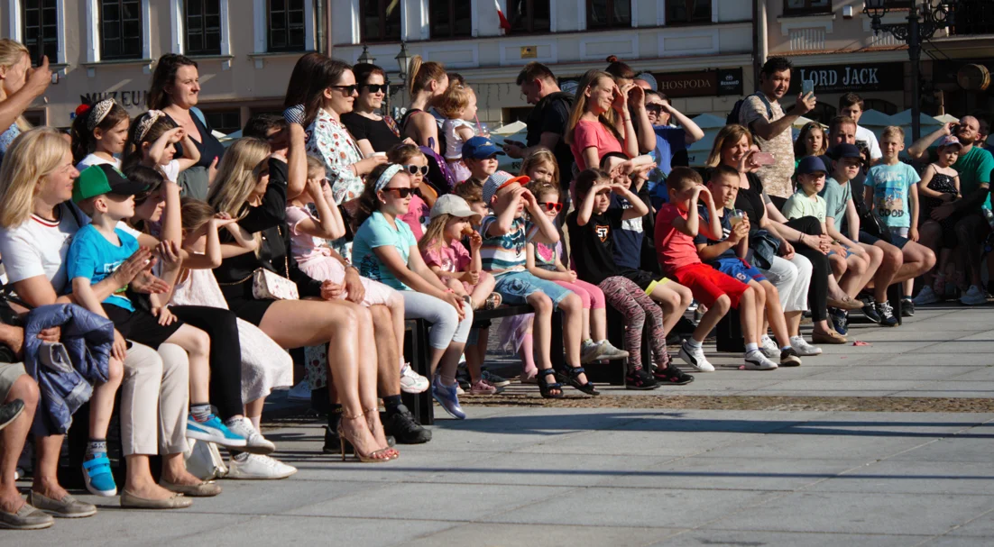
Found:
[{"label": "long blonde hair of seated woman in black dress", "polygon": [[259,168],[269,153],[269,144],[261,139],[245,137],[235,141],[218,166],[218,176],[207,202],[218,212],[241,217],[258,183]]}]

